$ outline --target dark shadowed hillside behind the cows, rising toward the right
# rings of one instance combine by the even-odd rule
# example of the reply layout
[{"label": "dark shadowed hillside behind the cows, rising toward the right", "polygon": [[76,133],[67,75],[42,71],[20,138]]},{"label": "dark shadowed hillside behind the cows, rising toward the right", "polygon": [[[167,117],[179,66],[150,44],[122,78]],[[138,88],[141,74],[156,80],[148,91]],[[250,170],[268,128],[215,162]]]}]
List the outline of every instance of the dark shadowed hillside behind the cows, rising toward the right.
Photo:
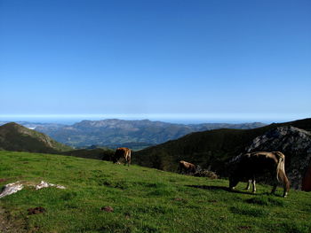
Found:
[{"label": "dark shadowed hillside behind the cows, rising toward the right", "polygon": [[228,159],[245,151],[245,147],[251,145],[255,137],[281,126],[309,130],[311,119],[271,124],[262,128],[222,128],[192,133],[177,140],[137,151],[133,155],[133,162],[141,166],[177,171],[178,162],[183,159],[201,167],[211,167],[220,175],[227,175],[224,165]]}]

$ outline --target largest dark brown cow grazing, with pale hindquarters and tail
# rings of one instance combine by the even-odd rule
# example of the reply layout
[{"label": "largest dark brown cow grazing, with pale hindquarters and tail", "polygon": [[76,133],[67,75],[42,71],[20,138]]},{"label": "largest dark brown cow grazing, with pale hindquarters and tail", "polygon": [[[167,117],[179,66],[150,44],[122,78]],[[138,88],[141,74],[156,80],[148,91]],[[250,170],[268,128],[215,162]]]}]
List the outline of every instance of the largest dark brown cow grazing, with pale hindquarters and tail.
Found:
[{"label": "largest dark brown cow grazing, with pale hindquarters and tail", "polygon": [[280,151],[260,151],[237,156],[230,162],[229,188],[235,189],[237,183],[246,179],[246,189],[248,190],[252,183],[252,192],[256,192],[256,177],[270,174],[274,183],[272,193],[275,193],[277,183],[282,182],[285,198],[290,190],[290,182],[286,177],[284,164],[285,156]]}]

